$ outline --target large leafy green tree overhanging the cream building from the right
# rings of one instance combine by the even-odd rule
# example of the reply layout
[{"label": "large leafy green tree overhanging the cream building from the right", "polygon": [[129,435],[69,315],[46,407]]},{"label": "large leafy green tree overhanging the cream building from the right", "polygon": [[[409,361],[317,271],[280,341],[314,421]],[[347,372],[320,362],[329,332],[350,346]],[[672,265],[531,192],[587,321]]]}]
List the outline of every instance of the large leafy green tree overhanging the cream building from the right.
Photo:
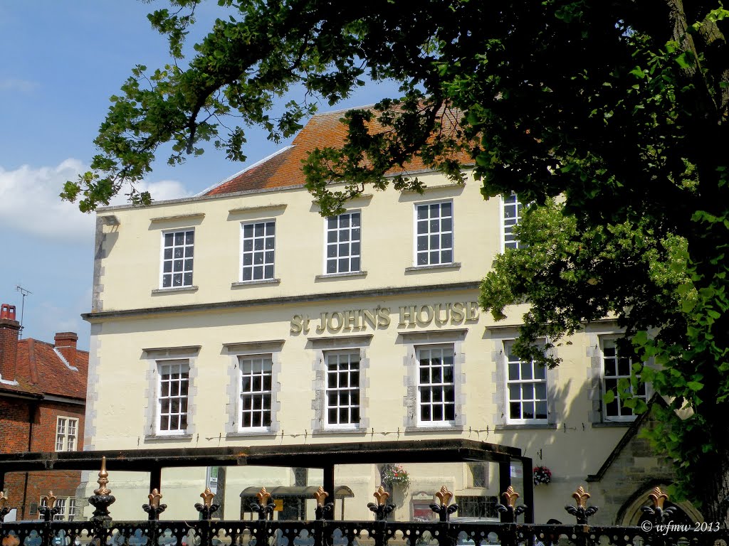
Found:
[{"label": "large leafy green tree overhanging the cream building from the right", "polygon": [[[693,411],[683,421],[668,412],[657,441],[706,517],[728,520],[729,11],[718,0],[423,0],[416,11],[389,0],[219,0],[221,17],[184,60],[202,1],[170,0],[149,16],[174,63],[133,71],[101,125],[93,172],[63,197],[82,210],[108,202],[149,172],[163,143],[172,164],[208,142],[242,160],[246,124],[277,140],[311,114],[311,95],[334,104],[365,76],[394,79],[399,98],[348,113],[344,146],[314,150],[305,165],[323,213],[367,184],[418,189],[416,177],[384,176],[413,157],[460,181],[458,154],[485,197],[515,190],[547,205],[529,221],[554,238],[523,229],[531,251],[499,258],[483,303],[528,296],[525,339],[617,314],[639,354],[663,366],[644,379],[671,408]],[[273,116],[297,86],[303,98]]]}]

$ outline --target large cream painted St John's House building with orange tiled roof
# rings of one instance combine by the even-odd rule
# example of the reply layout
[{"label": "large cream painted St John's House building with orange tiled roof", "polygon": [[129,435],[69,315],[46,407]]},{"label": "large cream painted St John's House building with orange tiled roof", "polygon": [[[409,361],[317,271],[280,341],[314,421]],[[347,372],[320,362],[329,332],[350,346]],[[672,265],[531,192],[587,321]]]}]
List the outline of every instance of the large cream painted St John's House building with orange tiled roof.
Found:
[{"label": "large cream painted St John's House building with orange tiled roof", "polygon": [[[534,491],[535,521],[572,521],[563,507],[580,485],[607,507],[593,521],[625,517],[609,484],[585,481],[634,420],[601,401],[629,373],[615,325],[588,325],[558,347],[564,363],[553,371],[511,355],[523,309],[495,323],[477,298],[494,257],[518,245],[519,205],[484,201],[475,181],[423,171],[423,194],[375,191],[322,218],[300,159],[313,143],[338,142],[339,116],[315,116],[293,146],[198,196],[98,211],[87,448],[480,440],[551,470]],[[647,484],[656,460],[630,464],[643,464]],[[459,517],[493,515],[493,464],[404,466],[397,519],[429,517],[443,484]],[[337,518],[371,518],[382,470],[338,467]],[[520,469],[512,475],[518,483]],[[192,504],[212,485],[226,519],[260,486],[289,495],[276,517],[311,518],[313,501],[292,491],[321,479],[313,469],[165,471],[163,516],[195,518]],[[110,480],[114,517],[144,517],[147,477]]]}]

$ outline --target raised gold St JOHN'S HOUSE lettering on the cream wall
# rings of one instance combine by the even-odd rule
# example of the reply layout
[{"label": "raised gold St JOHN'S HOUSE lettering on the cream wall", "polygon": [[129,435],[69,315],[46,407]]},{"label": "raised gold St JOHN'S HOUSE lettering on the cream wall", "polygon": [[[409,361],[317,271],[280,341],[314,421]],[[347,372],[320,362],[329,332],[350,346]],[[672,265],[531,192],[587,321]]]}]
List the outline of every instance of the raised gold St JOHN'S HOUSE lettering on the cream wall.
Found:
[{"label": "raised gold St JOHN'S HOUSE lettering on the cream wall", "polygon": [[[308,334],[363,332],[388,328],[393,311],[389,307],[376,309],[343,309],[322,311],[319,316],[295,314],[291,318],[291,333]],[[397,328],[426,328],[475,323],[479,308],[476,301],[456,301],[448,304],[405,305],[397,309]]]}]

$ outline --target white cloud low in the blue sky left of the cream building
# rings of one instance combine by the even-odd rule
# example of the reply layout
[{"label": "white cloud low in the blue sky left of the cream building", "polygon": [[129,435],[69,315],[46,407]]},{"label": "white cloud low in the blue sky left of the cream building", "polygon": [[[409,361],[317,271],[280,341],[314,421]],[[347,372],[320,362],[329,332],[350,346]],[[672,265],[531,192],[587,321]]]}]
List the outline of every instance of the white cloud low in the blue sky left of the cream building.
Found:
[{"label": "white cloud low in the blue sky left of the cream building", "polygon": [[[76,180],[85,170],[87,166],[77,159],[66,159],[57,167],[23,165],[15,170],[0,167],[0,229],[45,240],[91,240],[94,215],[82,213],[77,204],[58,197],[63,183]],[[149,191],[157,201],[192,194],[181,183],[168,180],[139,183],[137,189]],[[112,204],[125,204],[125,197],[114,198]]]}]

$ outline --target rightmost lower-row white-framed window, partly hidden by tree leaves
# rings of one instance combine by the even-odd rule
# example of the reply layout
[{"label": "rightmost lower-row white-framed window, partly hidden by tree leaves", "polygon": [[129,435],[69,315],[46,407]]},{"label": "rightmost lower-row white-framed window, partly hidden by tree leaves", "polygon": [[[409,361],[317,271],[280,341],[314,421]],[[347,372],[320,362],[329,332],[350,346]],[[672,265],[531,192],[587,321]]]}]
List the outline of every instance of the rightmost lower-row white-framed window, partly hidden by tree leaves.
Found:
[{"label": "rightmost lower-row white-framed window, partly hidden by tree leaves", "polygon": [[[627,384],[625,392],[631,393],[634,398],[642,398],[648,402],[647,385],[640,383],[636,392],[631,386],[631,371],[633,368],[633,360],[631,357],[620,355],[617,348],[617,338],[604,337],[600,339],[601,344],[601,360],[602,360],[602,380],[601,380],[601,396],[602,396],[602,414],[603,420],[610,421],[633,421],[636,414],[631,408],[624,405],[625,400],[620,400],[620,383]],[[615,395],[614,400],[605,403],[605,393],[612,391]]]}]

